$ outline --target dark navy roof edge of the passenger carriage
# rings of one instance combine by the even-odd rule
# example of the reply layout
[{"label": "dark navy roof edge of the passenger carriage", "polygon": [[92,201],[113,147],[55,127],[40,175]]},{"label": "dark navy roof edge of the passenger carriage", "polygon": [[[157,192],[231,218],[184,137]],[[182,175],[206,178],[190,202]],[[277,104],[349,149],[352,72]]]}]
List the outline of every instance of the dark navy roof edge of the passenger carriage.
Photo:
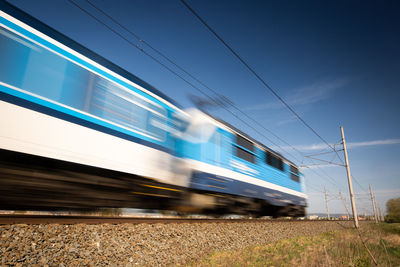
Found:
[{"label": "dark navy roof edge of the passenger carriage", "polygon": [[91,60],[97,62],[98,64],[110,69],[111,71],[121,75],[122,77],[136,83],[137,85],[145,88],[149,92],[157,95],[158,97],[163,98],[164,100],[170,102],[174,106],[178,108],[182,108],[177,102],[173,99],[156,89],[151,84],[145,82],[144,80],[140,79],[139,77],[133,75],[132,73],[128,72],[127,70],[119,67],[118,65],[112,63],[111,61],[107,60],[106,58],[100,56],[96,52],[93,52],[89,48],[79,44],[78,42],[72,40],[71,38],[67,37],[66,35],[60,33],[59,31],[53,29],[52,27],[48,26],[47,24],[43,23],[42,21],[34,18],[33,16],[29,15],[25,11],[17,8],[16,6],[0,0],[0,9],[5,13],[13,16],[14,18],[22,21],[23,23],[35,28],[36,30],[42,32],[43,34],[53,38],[54,40],[68,46],[69,48],[77,51],[78,53],[90,58]]}]

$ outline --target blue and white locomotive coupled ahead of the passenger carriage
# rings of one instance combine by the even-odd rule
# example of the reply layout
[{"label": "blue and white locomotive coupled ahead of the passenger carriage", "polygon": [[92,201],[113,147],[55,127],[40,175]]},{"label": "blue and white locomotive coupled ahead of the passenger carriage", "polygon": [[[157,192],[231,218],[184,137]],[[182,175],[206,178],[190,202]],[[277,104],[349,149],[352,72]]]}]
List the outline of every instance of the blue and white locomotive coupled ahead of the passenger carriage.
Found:
[{"label": "blue and white locomotive coupled ahead of the passenger carriage", "polygon": [[298,167],[233,126],[199,110],[178,143],[191,169],[189,188],[214,213],[305,215]]}]

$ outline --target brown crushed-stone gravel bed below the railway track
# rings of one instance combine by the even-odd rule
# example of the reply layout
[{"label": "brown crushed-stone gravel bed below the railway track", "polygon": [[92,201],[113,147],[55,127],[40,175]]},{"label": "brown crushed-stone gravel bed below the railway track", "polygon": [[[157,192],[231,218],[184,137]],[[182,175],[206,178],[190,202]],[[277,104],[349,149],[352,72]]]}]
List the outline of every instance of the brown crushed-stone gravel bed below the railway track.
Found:
[{"label": "brown crushed-stone gravel bed below the railway track", "polygon": [[0,263],[2,266],[176,266],[216,250],[238,250],[351,225],[351,222],[326,221],[0,225]]}]

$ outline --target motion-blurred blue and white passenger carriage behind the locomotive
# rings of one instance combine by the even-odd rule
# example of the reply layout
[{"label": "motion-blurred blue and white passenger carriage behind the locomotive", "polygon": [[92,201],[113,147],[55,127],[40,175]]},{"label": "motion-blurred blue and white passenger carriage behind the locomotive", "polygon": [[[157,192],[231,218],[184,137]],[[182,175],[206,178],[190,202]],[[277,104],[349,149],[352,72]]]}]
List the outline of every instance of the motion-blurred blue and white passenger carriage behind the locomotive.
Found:
[{"label": "motion-blurred blue and white passenger carriage behind the locomotive", "polygon": [[179,199],[188,180],[175,140],[187,114],[23,11],[0,10],[0,208]]}]

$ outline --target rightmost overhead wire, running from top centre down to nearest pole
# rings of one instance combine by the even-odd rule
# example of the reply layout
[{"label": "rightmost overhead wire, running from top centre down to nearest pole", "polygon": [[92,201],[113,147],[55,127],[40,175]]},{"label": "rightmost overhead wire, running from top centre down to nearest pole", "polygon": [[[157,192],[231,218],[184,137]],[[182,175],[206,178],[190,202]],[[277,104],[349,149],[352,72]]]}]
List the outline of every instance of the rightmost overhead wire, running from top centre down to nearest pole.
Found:
[{"label": "rightmost overhead wire, running from top centre down to nearest pole", "polygon": [[[209,30],[209,31],[211,31],[213,34],[214,34],[214,36],[215,37],[217,37],[217,39],[219,40],[219,41],[221,41],[221,43],[229,50],[229,51],[231,51],[232,52],[232,54],[237,58],[237,59],[239,59],[239,61],[244,65],[244,66],[246,66],[246,68],[276,97],[276,98],[278,98],[279,99],[279,101],[281,101],[282,102],[282,104],[284,104],[308,129],[310,129],[319,139],[321,139],[328,147],[330,147],[333,151],[335,151],[335,153],[337,153],[336,152],[336,150],[324,139],[324,138],[322,138],[322,136],[320,135],[320,134],[318,134],[307,122],[305,122],[304,121],[304,119],[296,112],[296,111],[294,111],[294,109],[288,104],[288,103],[286,103],[286,101],[285,100],[283,100],[283,98],[282,97],[280,97],[279,96],[279,94],[274,90],[274,89],[272,89],[272,87],[271,86],[269,86],[265,81],[264,81],[264,79],[263,78],[261,78],[260,77],[260,75],[258,75],[256,72],[255,72],[255,70],[252,68],[252,67],[250,67],[250,65],[249,64],[247,64],[246,63],[246,61],[244,61],[243,59],[242,59],[242,57],[240,57],[239,56],[239,54],[238,53],[236,53],[233,49],[232,49],[232,47],[230,46],[230,45],[228,45],[223,39],[222,39],[222,37],[221,36],[219,36],[218,35],[218,33],[216,33],[215,32],[215,30],[213,29],[213,28],[211,28],[211,26],[210,25],[208,25],[207,24],[207,22],[202,18],[202,17],[200,17],[200,15],[192,8],[192,7],[190,7],[189,6],[189,4],[187,4],[186,2],[185,2],[185,0],[181,0],[181,2],[185,5],[185,7],[187,8],[187,9],[189,9],[189,11],[190,12],[192,12],[193,13],[193,15],[195,15],[200,21],[201,21],[201,23]],[[339,155],[338,155],[338,157],[339,157]],[[341,158],[339,157],[339,159],[341,160]]]}]

